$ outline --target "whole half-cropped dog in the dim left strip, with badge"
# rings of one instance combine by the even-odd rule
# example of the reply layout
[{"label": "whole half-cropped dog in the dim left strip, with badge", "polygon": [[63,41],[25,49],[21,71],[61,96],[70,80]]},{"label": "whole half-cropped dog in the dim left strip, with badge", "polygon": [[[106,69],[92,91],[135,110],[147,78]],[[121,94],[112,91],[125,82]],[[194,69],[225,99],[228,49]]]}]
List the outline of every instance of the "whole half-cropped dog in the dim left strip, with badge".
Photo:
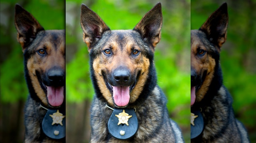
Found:
[{"label": "whole half-cropped dog in the dim left strip, with badge", "polygon": [[65,142],[65,30],[44,30],[18,4],[14,21],[30,93],[25,142]]}]

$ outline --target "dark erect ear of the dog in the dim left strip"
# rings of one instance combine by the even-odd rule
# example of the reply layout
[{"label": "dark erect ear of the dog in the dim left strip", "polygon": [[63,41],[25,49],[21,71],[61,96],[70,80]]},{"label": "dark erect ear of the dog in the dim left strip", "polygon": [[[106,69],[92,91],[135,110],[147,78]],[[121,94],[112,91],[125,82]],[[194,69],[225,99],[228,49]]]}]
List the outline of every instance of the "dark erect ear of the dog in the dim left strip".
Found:
[{"label": "dark erect ear of the dog in the dim left strip", "polygon": [[36,34],[44,28],[36,21],[36,19],[27,10],[20,5],[15,5],[14,22],[17,29],[17,40],[22,46],[22,51],[26,49]]}]

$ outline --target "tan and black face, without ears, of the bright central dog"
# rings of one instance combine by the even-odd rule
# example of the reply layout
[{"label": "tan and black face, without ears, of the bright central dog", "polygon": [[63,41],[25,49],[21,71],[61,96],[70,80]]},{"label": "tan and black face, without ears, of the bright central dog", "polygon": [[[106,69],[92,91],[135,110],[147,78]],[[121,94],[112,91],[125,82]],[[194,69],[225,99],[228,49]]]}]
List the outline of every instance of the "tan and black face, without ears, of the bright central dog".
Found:
[{"label": "tan and black face, without ears, of the bright central dog", "polygon": [[[134,102],[145,84],[152,51],[133,30],[106,31],[92,50],[93,70],[102,95],[117,106]],[[113,98],[112,98],[113,96]]]}]

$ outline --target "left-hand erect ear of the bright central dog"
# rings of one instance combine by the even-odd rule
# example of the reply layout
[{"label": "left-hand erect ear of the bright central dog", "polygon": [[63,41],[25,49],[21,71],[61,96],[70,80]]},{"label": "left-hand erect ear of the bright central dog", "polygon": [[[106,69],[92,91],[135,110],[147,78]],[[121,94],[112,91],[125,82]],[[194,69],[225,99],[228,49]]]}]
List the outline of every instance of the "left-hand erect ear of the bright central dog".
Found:
[{"label": "left-hand erect ear of the bright central dog", "polygon": [[88,51],[101,38],[103,32],[110,30],[102,19],[84,4],[81,5],[80,23],[84,32],[83,40],[87,44]]}]

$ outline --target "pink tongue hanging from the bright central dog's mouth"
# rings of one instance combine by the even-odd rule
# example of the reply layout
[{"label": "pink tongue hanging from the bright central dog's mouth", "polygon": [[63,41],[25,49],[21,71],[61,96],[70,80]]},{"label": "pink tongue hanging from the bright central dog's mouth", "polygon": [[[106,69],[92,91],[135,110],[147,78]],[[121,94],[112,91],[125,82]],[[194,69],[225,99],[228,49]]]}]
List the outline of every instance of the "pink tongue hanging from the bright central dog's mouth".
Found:
[{"label": "pink tongue hanging from the bright central dog's mouth", "polygon": [[129,87],[113,87],[114,102],[117,106],[126,106],[130,100],[130,88]]}]

